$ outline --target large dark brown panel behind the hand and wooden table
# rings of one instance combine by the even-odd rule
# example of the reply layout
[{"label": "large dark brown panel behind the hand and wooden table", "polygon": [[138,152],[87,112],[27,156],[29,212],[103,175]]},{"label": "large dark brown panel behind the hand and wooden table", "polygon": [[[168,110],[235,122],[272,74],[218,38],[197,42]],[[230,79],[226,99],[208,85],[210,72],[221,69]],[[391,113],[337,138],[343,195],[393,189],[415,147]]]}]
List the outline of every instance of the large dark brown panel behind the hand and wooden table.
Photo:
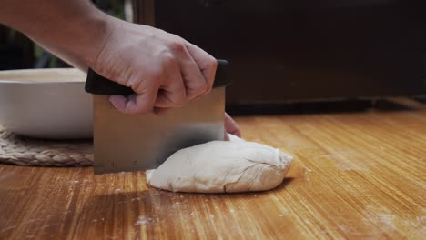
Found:
[{"label": "large dark brown panel behind the hand and wooden table", "polygon": [[157,27],[232,64],[228,104],[426,93],[426,1],[155,4]]}]

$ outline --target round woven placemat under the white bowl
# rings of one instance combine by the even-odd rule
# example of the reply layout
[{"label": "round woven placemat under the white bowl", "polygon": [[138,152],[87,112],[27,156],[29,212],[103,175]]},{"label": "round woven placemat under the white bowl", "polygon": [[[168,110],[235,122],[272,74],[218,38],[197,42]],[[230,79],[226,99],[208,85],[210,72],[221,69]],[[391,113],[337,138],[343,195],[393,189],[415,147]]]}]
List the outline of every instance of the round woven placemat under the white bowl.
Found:
[{"label": "round woven placemat under the white bowl", "polygon": [[15,135],[0,127],[0,163],[38,166],[93,165],[93,142],[35,139]]}]

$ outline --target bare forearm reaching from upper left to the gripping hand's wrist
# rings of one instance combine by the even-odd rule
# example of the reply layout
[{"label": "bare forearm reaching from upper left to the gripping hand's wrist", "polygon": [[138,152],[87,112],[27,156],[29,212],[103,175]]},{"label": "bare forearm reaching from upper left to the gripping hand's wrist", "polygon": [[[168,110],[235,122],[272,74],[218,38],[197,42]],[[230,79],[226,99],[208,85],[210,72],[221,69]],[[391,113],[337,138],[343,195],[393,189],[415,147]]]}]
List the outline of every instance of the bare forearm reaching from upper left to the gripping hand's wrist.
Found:
[{"label": "bare forearm reaching from upper left to the gripping hand's wrist", "polygon": [[108,17],[88,0],[0,0],[0,6],[0,23],[78,65],[94,61],[108,35]]}]

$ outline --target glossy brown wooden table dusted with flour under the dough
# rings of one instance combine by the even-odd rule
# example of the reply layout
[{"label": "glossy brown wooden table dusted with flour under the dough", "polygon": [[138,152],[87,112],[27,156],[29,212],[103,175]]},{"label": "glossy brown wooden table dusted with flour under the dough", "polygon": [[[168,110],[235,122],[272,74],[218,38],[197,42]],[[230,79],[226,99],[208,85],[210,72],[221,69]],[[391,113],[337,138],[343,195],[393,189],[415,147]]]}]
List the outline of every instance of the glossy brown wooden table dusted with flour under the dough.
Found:
[{"label": "glossy brown wooden table dusted with flour under the dough", "polygon": [[169,193],[143,173],[0,165],[0,239],[426,239],[426,106],[399,102],[238,117],[246,139],[302,170],[264,193]]}]

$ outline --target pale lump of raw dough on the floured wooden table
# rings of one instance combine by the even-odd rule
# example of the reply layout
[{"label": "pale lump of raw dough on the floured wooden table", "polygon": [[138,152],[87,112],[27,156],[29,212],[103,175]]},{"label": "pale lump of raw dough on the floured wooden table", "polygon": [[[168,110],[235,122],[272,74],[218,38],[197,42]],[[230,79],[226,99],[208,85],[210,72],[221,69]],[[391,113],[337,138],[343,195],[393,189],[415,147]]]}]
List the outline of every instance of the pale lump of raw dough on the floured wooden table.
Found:
[{"label": "pale lump of raw dough on the floured wooden table", "polygon": [[268,145],[213,141],[177,151],[155,170],[147,183],[174,192],[232,193],[264,191],[282,183],[292,157]]}]

